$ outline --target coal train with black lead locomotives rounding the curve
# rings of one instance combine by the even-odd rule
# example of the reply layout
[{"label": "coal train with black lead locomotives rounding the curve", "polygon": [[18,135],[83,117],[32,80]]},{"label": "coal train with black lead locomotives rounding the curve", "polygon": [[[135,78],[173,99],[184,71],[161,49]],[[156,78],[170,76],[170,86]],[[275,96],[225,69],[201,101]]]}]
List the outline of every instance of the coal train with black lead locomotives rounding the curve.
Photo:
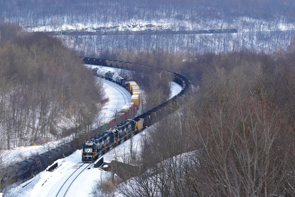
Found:
[{"label": "coal train with black lead locomotives rounding the curve", "polygon": [[[94,59],[94,58],[82,58],[84,63],[86,64],[95,64],[100,66],[112,66],[117,68],[125,68],[125,69],[132,69],[132,68],[139,68],[139,67],[147,67],[150,68],[151,66],[148,65],[139,65],[130,62],[118,62],[113,60],[105,60],[105,59]],[[118,66],[119,65],[119,66]],[[125,67],[124,67],[124,66]],[[176,99],[183,96],[187,91],[191,89],[191,82],[188,78],[180,75],[178,73],[172,72],[171,70],[166,69],[159,69],[165,70],[174,75],[174,81],[177,82],[179,85],[183,87],[183,89],[179,92],[179,94],[172,97],[170,100],[154,107],[153,109],[141,114],[134,119],[128,119],[123,121],[122,123],[110,128],[108,131],[104,131],[100,135],[95,136],[94,138],[88,140],[82,147],[82,155],[81,159],[84,163],[92,163],[96,159],[98,159],[101,155],[111,150],[113,147],[116,147],[120,143],[123,143],[128,138],[136,135],[140,131],[144,130],[145,128],[149,127],[153,123],[159,121],[162,117],[167,115],[167,106]],[[101,72],[98,71],[97,68],[93,69],[94,72],[98,76],[105,76],[110,81],[116,82],[113,78],[113,74],[108,72]],[[132,89],[132,84],[130,82],[125,82],[125,84],[129,83],[129,87],[127,89]],[[120,83],[119,83],[120,84]],[[120,84],[122,85],[122,84]]]}]

